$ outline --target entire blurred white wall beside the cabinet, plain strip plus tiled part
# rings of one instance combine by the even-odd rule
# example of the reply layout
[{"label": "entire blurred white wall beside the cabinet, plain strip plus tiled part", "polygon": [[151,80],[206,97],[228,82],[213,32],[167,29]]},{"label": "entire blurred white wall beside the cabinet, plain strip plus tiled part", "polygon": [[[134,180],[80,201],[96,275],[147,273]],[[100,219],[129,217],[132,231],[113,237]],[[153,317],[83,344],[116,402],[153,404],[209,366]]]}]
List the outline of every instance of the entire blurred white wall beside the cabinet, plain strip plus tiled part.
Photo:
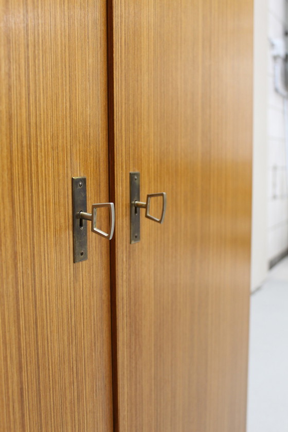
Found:
[{"label": "entire blurred white wall beside the cabinet, plain strip plus tiled part", "polygon": [[254,154],[251,289],[288,250],[284,101],[274,89],[270,38],[284,39],[288,0],[254,2]]}]

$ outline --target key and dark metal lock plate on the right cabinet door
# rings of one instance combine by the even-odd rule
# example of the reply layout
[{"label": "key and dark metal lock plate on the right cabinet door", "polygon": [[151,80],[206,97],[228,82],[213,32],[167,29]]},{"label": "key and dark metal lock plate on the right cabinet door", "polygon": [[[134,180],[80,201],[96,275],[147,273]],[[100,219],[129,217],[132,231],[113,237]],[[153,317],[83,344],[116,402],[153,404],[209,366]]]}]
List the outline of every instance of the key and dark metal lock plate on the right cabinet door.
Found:
[{"label": "key and dark metal lock plate on the right cabinet door", "polygon": [[[155,218],[150,214],[151,198],[161,196],[163,200],[162,212],[160,219]],[[149,193],[147,195],[146,203],[140,200],[140,173],[130,173],[130,243],[137,243],[140,241],[140,211],[138,208],[145,208],[145,217],[154,222],[163,223],[166,211],[166,193]]]}]

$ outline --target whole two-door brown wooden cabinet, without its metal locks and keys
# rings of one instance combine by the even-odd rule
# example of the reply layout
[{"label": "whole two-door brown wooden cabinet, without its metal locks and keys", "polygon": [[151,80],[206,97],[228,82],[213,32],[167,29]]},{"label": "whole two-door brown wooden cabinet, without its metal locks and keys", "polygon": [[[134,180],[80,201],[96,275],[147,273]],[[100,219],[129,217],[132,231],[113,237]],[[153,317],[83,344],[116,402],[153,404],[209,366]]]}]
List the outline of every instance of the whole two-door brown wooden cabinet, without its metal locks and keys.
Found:
[{"label": "whole two-door brown wooden cabinet, without its metal locks and keys", "polygon": [[253,2],[0,4],[0,431],[244,432]]}]

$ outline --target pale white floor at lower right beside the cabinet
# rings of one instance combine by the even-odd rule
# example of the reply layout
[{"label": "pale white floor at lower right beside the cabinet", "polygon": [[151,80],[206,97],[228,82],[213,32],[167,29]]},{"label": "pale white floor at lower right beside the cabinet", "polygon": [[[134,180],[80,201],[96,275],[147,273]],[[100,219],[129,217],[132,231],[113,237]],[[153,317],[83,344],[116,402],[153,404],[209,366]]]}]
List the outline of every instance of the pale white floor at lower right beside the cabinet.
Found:
[{"label": "pale white floor at lower right beside the cabinet", "polygon": [[251,296],[249,350],[247,432],[288,432],[288,258]]}]

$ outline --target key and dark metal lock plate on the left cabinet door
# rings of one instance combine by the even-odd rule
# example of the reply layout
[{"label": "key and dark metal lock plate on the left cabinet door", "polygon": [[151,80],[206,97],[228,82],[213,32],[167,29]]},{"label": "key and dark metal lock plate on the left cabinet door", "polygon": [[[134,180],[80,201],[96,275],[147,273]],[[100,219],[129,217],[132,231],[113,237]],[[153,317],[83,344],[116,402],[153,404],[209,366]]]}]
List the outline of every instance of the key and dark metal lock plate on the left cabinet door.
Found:
[{"label": "key and dark metal lock plate on the left cabinet door", "polygon": [[[74,262],[85,261],[87,253],[87,222],[91,221],[91,231],[101,237],[111,240],[115,227],[115,209],[113,203],[99,203],[92,205],[92,212],[87,213],[86,177],[73,177],[73,237],[74,237]],[[104,232],[97,228],[97,209],[109,207],[110,228]]]}]

